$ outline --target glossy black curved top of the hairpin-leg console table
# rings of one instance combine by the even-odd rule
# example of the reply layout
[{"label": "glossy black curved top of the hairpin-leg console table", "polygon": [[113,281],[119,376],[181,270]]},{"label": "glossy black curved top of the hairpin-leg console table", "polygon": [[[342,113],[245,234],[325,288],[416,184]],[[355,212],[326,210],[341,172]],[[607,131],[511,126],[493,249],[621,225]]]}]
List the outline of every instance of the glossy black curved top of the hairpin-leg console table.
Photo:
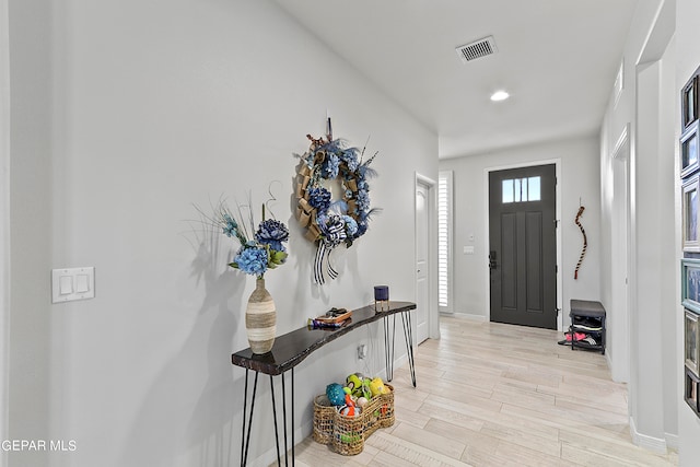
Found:
[{"label": "glossy black curved top of the hairpin-leg console table", "polygon": [[256,372],[279,375],[293,369],[314,350],[336,340],[361,326],[374,323],[396,313],[416,310],[411,302],[389,302],[388,310],[376,312],[374,305],[353,310],[352,317],[345,326],[335,329],[308,329],[303,327],[275,338],[272,350],[264,354],[253,353],[250,348],[231,355],[231,362]]}]

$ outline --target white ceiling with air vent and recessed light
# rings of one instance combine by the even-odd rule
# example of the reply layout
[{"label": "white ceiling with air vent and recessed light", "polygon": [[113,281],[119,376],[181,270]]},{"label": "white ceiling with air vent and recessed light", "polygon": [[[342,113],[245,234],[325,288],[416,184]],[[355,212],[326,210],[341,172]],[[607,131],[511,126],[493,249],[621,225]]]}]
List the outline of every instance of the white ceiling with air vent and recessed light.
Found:
[{"label": "white ceiling with air vent and recessed light", "polygon": [[[600,126],[637,0],[277,0],[439,136],[440,156]],[[455,48],[492,35],[498,52]],[[504,89],[511,98],[492,103]]]}]

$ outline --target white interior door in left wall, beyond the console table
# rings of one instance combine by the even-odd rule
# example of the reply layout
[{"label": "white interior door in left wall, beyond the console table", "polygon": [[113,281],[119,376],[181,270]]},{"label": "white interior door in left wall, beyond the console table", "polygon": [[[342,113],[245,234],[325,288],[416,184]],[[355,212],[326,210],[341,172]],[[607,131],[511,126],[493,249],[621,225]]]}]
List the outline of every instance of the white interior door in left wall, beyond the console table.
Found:
[{"label": "white interior door in left wall, beyond the console table", "polygon": [[430,310],[430,202],[429,188],[416,185],[416,343],[428,339]]}]

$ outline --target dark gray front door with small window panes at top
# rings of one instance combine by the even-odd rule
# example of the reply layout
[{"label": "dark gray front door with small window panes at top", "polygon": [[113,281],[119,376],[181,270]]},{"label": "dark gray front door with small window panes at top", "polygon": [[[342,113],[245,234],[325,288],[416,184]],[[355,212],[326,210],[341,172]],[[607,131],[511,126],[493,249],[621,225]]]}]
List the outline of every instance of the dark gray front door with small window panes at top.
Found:
[{"label": "dark gray front door with small window panes at top", "polygon": [[556,166],[489,174],[491,320],[557,329]]}]

